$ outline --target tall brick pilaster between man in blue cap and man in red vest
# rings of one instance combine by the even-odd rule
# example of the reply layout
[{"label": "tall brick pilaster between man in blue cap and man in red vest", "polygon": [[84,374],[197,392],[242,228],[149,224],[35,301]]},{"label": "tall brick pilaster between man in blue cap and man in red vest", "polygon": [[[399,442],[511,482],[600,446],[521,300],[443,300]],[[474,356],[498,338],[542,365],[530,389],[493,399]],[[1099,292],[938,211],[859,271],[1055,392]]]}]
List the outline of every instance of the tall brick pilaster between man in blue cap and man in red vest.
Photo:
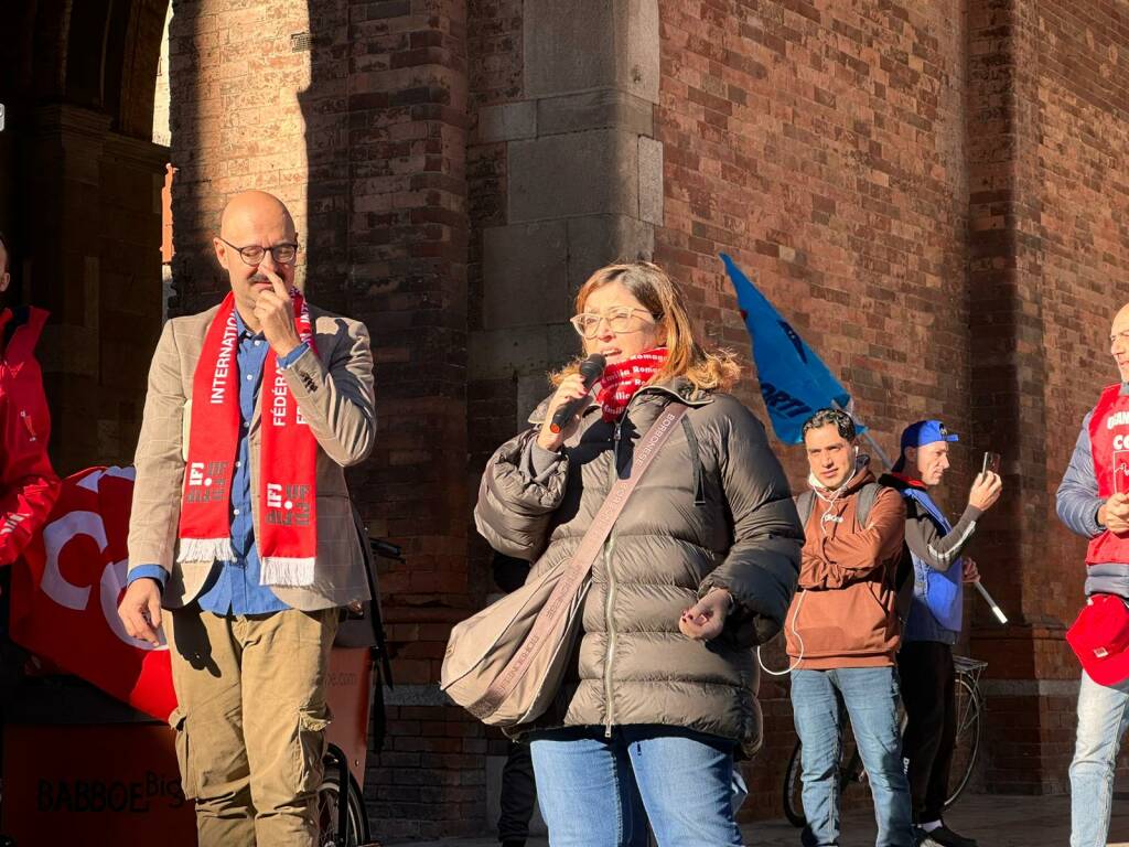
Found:
[{"label": "tall brick pilaster between man in blue cap and man in red vest", "polygon": [[[984,787],[999,793],[1066,789],[1077,670],[1064,641],[1064,596],[1047,575],[1054,561],[1054,490],[1044,390],[1053,314],[1043,311],[1036,41],[1031,5],[969,6],[969,292],[971,404],[977,442],[1004,454],[1005,496],[981,522],[974,555],[1007,612],[1001,628],[972,596],[971,653],[989,663]],[[1065,451],[1058,451],[1065,453]],[[1080,592],[1079,592],[1080,593]]]}]

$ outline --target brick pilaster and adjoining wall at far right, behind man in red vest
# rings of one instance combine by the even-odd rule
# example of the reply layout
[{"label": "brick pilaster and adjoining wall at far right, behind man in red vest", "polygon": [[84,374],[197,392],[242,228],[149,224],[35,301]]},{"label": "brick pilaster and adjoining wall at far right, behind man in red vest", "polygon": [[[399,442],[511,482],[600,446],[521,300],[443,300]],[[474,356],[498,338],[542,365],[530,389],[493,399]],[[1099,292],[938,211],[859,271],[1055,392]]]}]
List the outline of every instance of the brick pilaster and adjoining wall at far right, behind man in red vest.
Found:
[{"label": "brick pilaster and adjoining wall at far right, behind man in red vest", "polygon": [[1078,671],[1061,639],[1083,601],[1084,547],[1053,518],[1053,495],[1083,414],[1117,378],[1108,333],[1129,263],[1119,176],[1129,157],[1129,18],[1113,2],[978,6],[971,52],[982,107],[971,114],[988,140],[977,150],[971,241],[986,372],[973,377],[978,417],[1016,445],[1019,496],[991,541],[1015,575],[1009,600],[1031,641],[1026,656],[1007,645],[1029,682],[1023,698],[995,704],[1001,732],[989,779],[1062,792]]}]

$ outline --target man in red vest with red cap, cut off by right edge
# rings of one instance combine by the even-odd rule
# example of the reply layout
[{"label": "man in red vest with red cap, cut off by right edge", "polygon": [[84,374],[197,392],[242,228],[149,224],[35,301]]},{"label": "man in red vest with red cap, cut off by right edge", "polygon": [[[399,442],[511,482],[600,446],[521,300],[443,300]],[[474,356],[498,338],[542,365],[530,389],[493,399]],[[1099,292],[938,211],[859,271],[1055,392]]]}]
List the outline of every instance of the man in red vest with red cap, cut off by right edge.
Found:
[{"label": "man in red vest with red cap, cut off by right edge", "polygon": [[1083,663],[1070,762],[1070,847],[1105,845],[1118,748],[1129,726],[1129,305],[1113,318],[1120,381],[1086,414],[1058,489],[1058,515],[1089,541],[1087,604],[1067,634]]}]

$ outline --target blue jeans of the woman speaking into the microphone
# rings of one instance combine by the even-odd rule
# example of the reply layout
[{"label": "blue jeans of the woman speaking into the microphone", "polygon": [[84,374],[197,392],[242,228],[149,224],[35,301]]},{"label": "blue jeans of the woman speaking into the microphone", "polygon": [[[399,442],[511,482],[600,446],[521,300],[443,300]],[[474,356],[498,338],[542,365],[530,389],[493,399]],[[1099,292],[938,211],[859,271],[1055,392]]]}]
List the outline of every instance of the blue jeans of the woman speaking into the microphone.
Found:
[{"label": "blue jeans of the woman speaking into the microphone", "polygon": [[734,743],[672,726],[575,727],[533,735],[552,847],[739,847]]}]

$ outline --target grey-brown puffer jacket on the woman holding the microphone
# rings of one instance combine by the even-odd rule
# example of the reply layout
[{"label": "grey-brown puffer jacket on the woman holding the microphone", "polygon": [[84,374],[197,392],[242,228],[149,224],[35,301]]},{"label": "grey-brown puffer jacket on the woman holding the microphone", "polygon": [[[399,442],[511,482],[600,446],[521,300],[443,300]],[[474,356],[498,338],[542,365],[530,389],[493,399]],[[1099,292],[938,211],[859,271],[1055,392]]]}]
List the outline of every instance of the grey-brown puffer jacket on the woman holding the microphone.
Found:
[{"label": "grey-brown puffer jacket on the woman holding the microphone", "polygon": [[[755,746],[761,721],[751,647],[772,638],[796,588],[804,533],[764,428],[727,394],[683,378],[647,386],[618,424],[590,407],[548,470],[534,475],[533,428],[487,465],[474,510],[496,550],[535,562],[530,578],[566,562],[634,447],[669,402],[690,407],[639,482],[593,566],[583,637],[546,715],[527,730],[663,724]],[[614,460],[614,464],[613,464]],[[736,606],[710,643],[679,618],[710,588]]]}]

